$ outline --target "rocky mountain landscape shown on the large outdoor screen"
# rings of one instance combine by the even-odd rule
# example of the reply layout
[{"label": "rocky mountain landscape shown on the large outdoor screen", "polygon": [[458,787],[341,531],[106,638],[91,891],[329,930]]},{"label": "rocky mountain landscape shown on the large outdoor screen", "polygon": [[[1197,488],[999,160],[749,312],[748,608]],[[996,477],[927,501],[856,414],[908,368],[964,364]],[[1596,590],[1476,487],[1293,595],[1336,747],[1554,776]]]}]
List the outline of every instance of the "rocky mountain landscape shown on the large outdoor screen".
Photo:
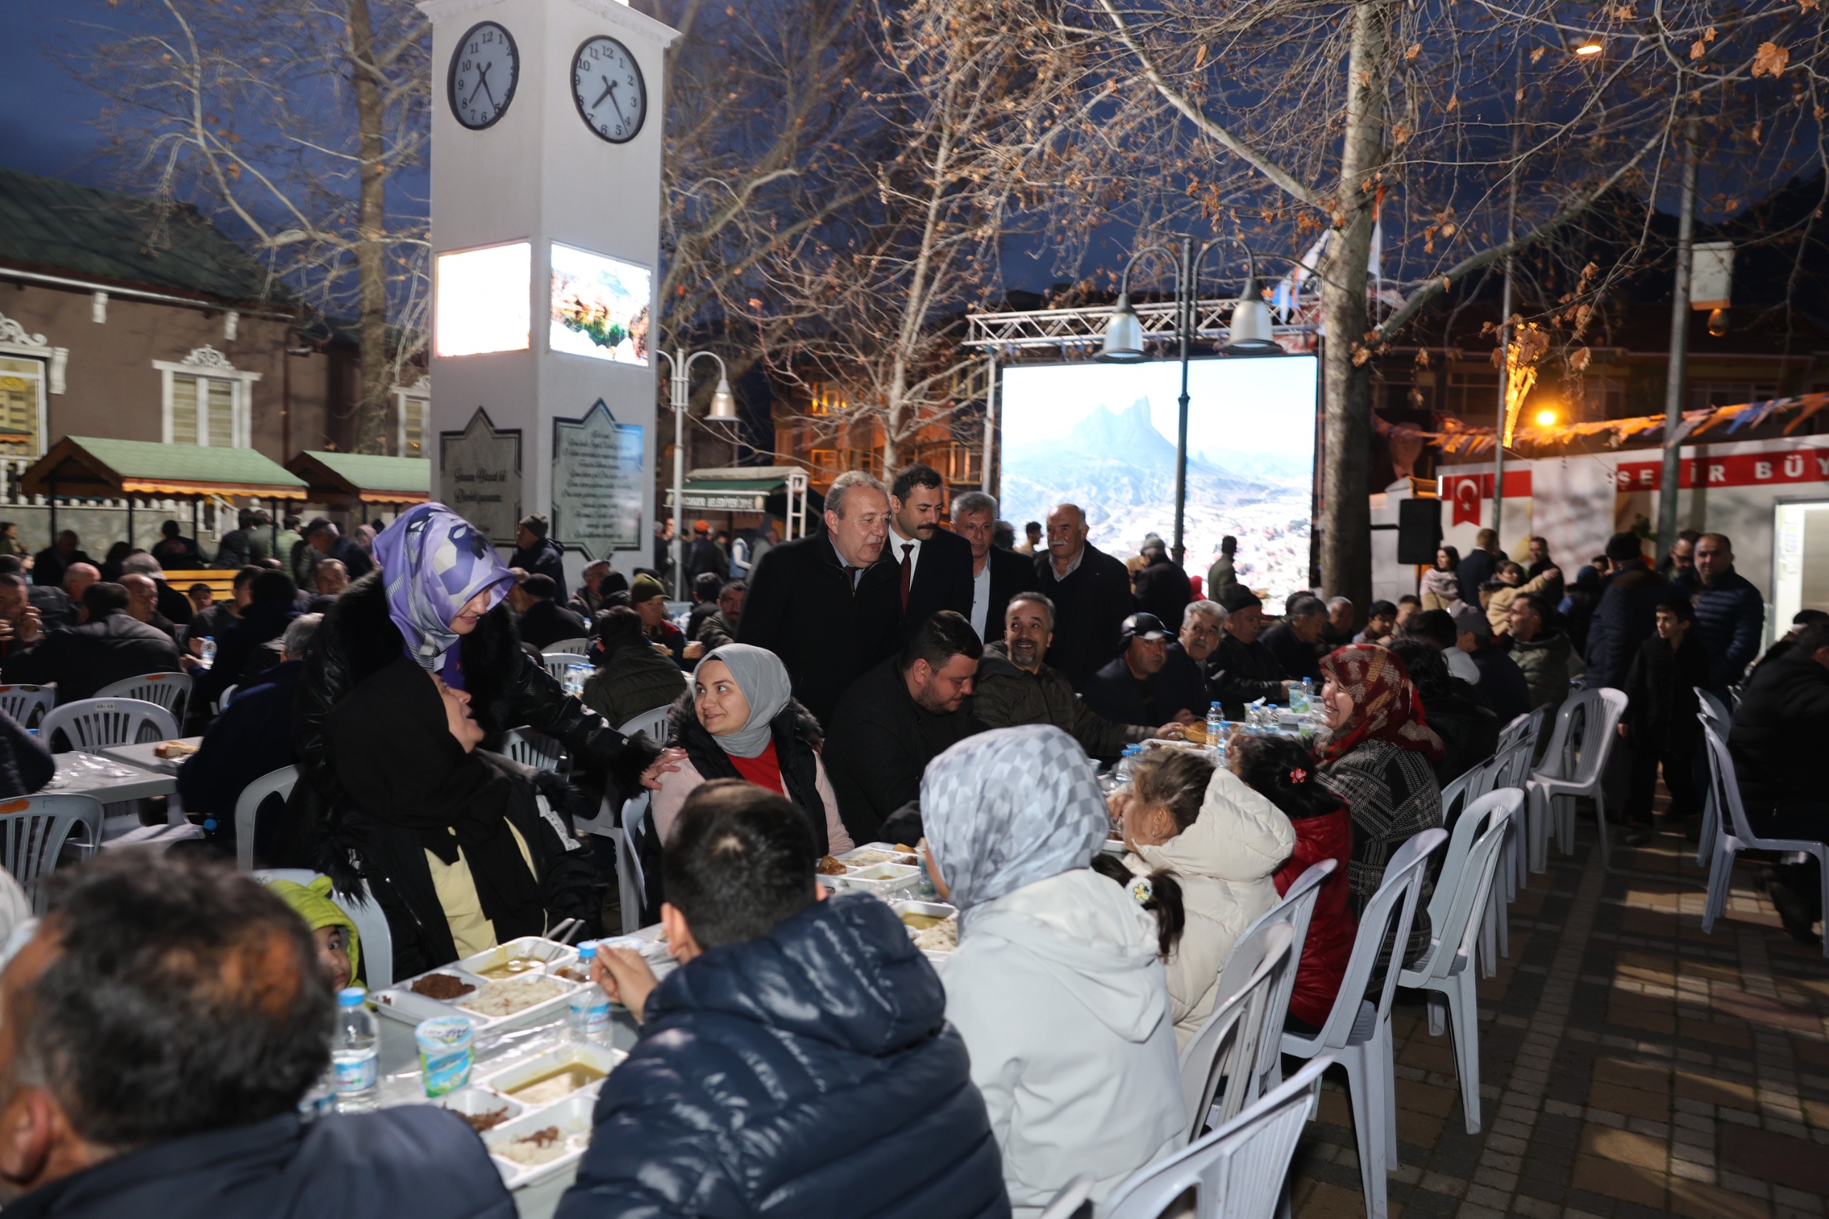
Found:
[{"label": "rocky mountain landscape shown on the large outdoor screen", "polygon": [[[1055,503],[1086,512],[1090,540],[1128,558],[1143,536],[1174,534],[1174,437],[1150,421],[1149,399],[1096,406],[1064,436],[1004,432],[1002,514],[1046,520]],[[1220,538],[1238,538],[1238,577],[1273,600],[1308,584],[1310,465],[1286,454],[1233,452],[1189,441],[1187,573],[1205,577]]]}]

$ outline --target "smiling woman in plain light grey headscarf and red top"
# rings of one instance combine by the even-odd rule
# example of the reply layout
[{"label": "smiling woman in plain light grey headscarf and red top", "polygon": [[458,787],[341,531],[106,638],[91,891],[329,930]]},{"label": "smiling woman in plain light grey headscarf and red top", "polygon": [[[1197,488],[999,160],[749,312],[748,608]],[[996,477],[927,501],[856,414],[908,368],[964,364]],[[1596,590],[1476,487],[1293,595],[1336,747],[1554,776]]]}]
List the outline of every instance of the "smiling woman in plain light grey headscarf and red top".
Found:
[{"label": "smiling woman in plain light grey headscarf and red top", "polygon": [[852,847],[816,750],[818,725],[794,701],[788,670],[774,652],[724,644],[708,653],[669,723],[668,745],[684,749],[686,761],[658,774],[653,813],[662,849],[686,796],[713,778],[741,778],[786,796],[807,814],[819,855]]}]

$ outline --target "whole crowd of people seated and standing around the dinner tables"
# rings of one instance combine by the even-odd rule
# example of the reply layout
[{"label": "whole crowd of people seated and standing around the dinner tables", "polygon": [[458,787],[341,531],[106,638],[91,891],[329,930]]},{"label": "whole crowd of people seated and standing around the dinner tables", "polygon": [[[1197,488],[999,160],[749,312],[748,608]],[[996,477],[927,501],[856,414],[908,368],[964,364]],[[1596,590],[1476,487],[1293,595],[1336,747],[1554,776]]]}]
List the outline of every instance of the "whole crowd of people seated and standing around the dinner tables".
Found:
[{"label": "whole crowd of people seated and standing around the dinner tables", "polygon": [[[452,1115],[300,1120],[327,996],[364,959],[327,897],[373,895],[395,976],[565,919],[594,937],[613,869],[582,824],[644,793],[640,921],[662,924],[679,968],[596,957],[640,1034],[596,1102],[567,1219],[1033,1219],[1079,1175],[1103,1199],[1185,1140],[1178,1047],[1211,1016],[1244,930],[1310,866],[1335,864],[1288,1012],[1291,1030],[1319,1030],[1388,860],[1443,824],[1443,787],[1492,756],[1500,728],[1560,705],[1571,677],[1628,694],[1628,840],[1659,769],[1675,816],[1699,807],[1694,686],[1743,685],[1730,743],[1761,825],[1822,836],[1829,813],[1807,761],[1829,730],[1829,615],[1800,615],[1756,657],[1759,597],[1719,534],[1692,540],[1672,577],[1620,534],[1604,573],[1573,580],[1542,540],[1522,566],[1483,538],[1467,558],[1443,547],[1416,597],[1361,615],[1295,593],[1267,620],[1220,564],[1205,597],[1160,540],[1139,562],[1099,551],[1077,505],[1033,522],[1022,553],[991,496],[947,498],[916,465],[889,485],[840,476],[823,529],[752,536],[741,573],[733,542],[695,529],[693,604],[675,620],[658,545],[655,567],[591,564],[567,595],[541,516],[508,562],[435,503],[353,542],[313,523],[289,567],[247,523],[232,597],[177,593],[185,620],[165,608],[165,573],[196,549],[176,531],[161,553],[119,556],[115,580],[73,534],[31,584],[0,555],[7,681],[93,692],[192,672],[203,743],[179,796],[205,827],[194,851],[59,877],[0,976],[0,1115],[22,1131],[0,1155],[9,1210],[201,1214],[181,1199],[209,1197],[267,1214],[300,1175],[417,1168],[437,1186],[412,1203],[364,1186],[348,1208],[505,1215]],[[593,674],[571,694],[540,652],[580,639]],[[1143,750],[1101,794],[1097,765],[1128,745],[1174,739],[1213,705],[1244,719],[1297,697],[1313,699],[1313,741],[1235,736],[1222,765]],[[33,791],[48,743],[7,727],[0,785]],[[512,761],[510,730],[554,741],[571,769]],[[262,891],[210,857],[236,846],[240,791],[283,765],[300,780],[256,816],[254,855],[320,880]],[[1123,851],[1105,849],[1114,836]],[[918,844],[962,912],[944,981],[885,904],[818,884],[825,857],[865,842]],[[1772,879],[1794,933],[1820,917],[1813,891]],[[1425,891],[1379,968],[1428,943]],[[177,987],[146,965],[174,954],[190,970]],[[79,1005],[82,987],[119,1003]],[[113,1032],[130,1018],[168,1032]],[[75,1054],[71,1038],[113,1056]],[[101,1073],[135,1052],[157,1062],[132,1078],[170,1120],[110,1102]]]}]

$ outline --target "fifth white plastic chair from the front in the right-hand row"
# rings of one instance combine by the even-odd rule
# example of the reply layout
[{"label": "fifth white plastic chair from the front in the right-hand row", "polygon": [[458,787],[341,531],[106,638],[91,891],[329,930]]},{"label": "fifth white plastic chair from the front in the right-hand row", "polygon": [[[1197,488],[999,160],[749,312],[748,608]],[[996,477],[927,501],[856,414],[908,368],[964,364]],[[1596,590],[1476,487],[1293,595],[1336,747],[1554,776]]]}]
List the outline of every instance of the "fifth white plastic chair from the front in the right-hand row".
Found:
[{"label": "fifth white plastic chair from the front in the right-hand row", "polygon": [[1399,987],[1430,990],[1428,1032],[1441,1036],[1441,1003],[1454,1027],[1454,1065],[1461,1082],[1461,1113],[1467,1133],[1480,1133],[1480,1007],[1474,996],[1474,939],[1480,935],[1500,847],[1513,818],[1524,813],[1516,787],[1480,796],[1454,824],[1441,875],[1428,901],[1428,955],[1397,977]]}]

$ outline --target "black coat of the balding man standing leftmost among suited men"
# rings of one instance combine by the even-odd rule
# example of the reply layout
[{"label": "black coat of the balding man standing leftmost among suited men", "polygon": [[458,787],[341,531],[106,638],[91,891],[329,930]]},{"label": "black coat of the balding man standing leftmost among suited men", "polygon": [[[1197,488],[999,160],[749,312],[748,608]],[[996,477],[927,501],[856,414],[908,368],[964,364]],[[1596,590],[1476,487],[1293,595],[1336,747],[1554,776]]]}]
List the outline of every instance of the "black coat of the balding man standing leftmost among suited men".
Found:
[{"label": "black coat of the balding man standing leftmost among suited men", "polygon": [[902,569],[878,560],[852,589],[827,531],[775,545],[750,577],[737,642],[781,657],[794,697],[829,725],[838,696],[902,650]]}]

